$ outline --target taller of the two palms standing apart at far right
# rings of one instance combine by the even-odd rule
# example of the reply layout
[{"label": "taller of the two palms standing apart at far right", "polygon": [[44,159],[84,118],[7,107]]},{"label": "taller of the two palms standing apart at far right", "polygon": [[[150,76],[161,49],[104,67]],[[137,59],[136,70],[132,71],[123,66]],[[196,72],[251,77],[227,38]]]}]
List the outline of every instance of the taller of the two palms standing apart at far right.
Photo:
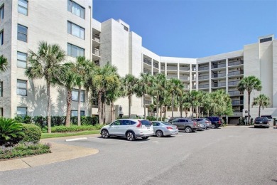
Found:
[{"label": "taller of the two palms standing apart at far right", "polygon": [[245,90],[248,93],[248,124],[250,124],[250,95],[253,90],[261,91],[261,80],[256,78],[256,76],[251,75],[245,78],[242,78],[238,85],[238,90],[244,92]]}]

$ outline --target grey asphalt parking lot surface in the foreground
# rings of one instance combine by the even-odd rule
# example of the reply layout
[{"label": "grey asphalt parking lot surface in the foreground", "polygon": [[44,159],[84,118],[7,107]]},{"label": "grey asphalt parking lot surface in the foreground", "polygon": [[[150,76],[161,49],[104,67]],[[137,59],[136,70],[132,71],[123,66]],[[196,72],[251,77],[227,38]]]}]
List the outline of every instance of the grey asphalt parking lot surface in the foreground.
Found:
[{"label": "grey asphalt parking lot surface in the foreground", "polygon": [[99,153],[0,172],[0,184],[276,184],[277,129],[228,126],[129,142],[56,142]]}]

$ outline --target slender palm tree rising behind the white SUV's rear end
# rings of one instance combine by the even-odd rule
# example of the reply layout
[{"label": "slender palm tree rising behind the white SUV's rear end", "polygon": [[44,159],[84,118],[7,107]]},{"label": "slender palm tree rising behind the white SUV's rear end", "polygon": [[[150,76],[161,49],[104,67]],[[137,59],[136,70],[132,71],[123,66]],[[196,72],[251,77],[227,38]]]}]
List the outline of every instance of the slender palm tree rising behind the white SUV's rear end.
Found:
[{"label": "slender palm tree rising behind the white SUV's rear end", "polygon": [[146,119],[146,94],[150,93],[151,88],[151,75],[148,73],[141,73],[138,83],[136,83],[136,95],[143,97],[144,119]]}]

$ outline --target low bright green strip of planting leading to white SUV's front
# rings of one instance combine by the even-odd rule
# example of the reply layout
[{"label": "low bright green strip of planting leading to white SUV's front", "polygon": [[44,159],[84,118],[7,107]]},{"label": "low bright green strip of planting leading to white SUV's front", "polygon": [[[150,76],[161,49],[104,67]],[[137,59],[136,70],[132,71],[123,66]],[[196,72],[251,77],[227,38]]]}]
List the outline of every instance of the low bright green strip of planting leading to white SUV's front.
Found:
[{"label": "low bright green strip of planting leading to white SUV's front", "polygon": [[85,130],[97,130],[101,129],[104,125],[70,125],[70,127],[65,126],[55,126],[51,128],[51,131],[54,132],[78,132],[78,131],[85,131]]}]

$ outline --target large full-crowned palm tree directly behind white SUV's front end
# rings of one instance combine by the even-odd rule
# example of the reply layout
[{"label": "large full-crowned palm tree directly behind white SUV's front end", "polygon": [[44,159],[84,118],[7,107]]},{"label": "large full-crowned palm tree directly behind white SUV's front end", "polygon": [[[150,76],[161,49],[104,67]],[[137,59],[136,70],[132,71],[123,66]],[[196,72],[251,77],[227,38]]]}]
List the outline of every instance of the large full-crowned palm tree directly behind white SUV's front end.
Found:
[{"label": "large full-crowned palm tree directly behind white SUV's front end", "polygon": [[95,67],[93,73],[89,73],[89,78],[87,79],[85,86],[97,92],[98,116],[100,125],[102,125],[104,122],[104,105],[102,106],[102,98],[104,97],[104,93],[111,89],[112,85],[118,81],[118,76],[117,68],[114,65],[110,65],[109,63],[101,68],[97,66]]}]

